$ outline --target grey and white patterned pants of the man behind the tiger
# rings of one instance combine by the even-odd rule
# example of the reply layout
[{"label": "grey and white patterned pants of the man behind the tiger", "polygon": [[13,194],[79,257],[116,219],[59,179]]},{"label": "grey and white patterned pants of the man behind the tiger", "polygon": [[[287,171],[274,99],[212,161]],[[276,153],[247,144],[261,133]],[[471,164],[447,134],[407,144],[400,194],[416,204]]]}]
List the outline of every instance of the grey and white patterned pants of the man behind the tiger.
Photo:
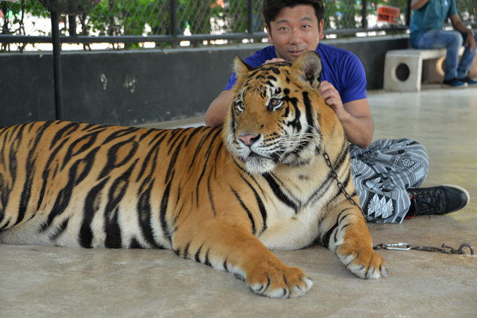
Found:
[{"label": "grey and white patterned pants of the man behind the tiger", "polygon": [[426,148],[409,139],[380,139],[368,148],[349,146],[351,174],[369,222],[402,223],[410,207],[408,188],[429,172]]}]

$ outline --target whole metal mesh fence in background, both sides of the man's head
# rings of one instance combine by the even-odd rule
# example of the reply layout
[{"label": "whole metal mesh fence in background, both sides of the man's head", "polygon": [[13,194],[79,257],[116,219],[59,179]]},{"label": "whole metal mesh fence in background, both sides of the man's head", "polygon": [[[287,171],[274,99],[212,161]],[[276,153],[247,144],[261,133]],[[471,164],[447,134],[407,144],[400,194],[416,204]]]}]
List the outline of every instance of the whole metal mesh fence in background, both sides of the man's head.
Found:
[{"label": "whole metal mesh fence in background, both sides of the man's head", "polygon": [[[324,2],[327,36],[407,29],[410,0]],[[377,20],[380,5],[401,11],[395,24]],[[261,6],[262,0],[102,0],[86,13],[60,13],[60,41],[82,43],[80,49],[94,49],[92,43],[166,48],[262,41]],[[464,22],[477,25],[477,0],[457,0],[457,6]],[[40,43],[51,43],[51,13],[39,1],[0,0],[0,10],[0,50],[38,50]]]}]

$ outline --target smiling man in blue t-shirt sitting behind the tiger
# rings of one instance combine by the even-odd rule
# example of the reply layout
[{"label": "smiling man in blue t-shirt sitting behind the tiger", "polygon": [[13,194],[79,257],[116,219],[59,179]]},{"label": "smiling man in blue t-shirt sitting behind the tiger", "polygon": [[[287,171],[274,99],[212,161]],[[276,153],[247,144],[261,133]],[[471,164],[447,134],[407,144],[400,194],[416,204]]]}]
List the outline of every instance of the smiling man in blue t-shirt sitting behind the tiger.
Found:
[{"label": "smiling man in blue t-shirt sitting behind the tiger", "polygon": [[[335,110],[350,145],[351,172],[368,221],[401,223],[405,216],[445,214],[462,209],[469,194],[457,186],[415,188],[424,182],[429,158],[424,146],[408,139],[372,141],[374,125],[366,97],[363,65],[354,54],[319,43],[323,39],[321,0],[264,0],[269,43],[245,62],[252,67],[293,62],[307,50],[321,56],[319,90]],[[221,125],[233,99],[232,74],[225,90],[210,104],[206,125]],[[367,148],[365,148],[367,147]]]}]

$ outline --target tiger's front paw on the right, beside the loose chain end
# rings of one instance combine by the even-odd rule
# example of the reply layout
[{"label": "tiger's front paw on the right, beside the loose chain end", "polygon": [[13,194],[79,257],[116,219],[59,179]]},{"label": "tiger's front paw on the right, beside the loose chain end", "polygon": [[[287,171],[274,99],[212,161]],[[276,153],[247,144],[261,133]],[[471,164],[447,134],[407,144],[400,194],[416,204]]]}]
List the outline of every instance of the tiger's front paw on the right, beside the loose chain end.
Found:
[{"label": "tiger's front paw on the right, beside the loose chain end", "polygon": [[337,249],[340,261],[356,276],[364,279],[387,277],[384,258],[372,248],[357,249],[351,244],[342,244]]}]

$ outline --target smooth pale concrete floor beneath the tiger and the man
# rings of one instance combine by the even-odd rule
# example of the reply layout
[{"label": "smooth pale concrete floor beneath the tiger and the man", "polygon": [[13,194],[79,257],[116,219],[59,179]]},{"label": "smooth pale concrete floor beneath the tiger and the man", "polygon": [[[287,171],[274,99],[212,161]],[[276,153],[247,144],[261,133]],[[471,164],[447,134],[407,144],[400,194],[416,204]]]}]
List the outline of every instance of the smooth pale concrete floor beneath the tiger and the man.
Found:
[{"label": "smooth pale concrete floor beneath the tiger and the man", "polygon": [[[375,244],[466,242],[477,251],[477,88],[369,100],[376,139],[426,146],[425,186],[459,184],[473,196],[447,216],[370,224]],[[477,255],[381,251],[389,277],[366,281],[322,247],[276,252],[315,283],[302,298],[276,300],[172,251],[0,245],[0,254],[0,317],[477,317]]]}]

